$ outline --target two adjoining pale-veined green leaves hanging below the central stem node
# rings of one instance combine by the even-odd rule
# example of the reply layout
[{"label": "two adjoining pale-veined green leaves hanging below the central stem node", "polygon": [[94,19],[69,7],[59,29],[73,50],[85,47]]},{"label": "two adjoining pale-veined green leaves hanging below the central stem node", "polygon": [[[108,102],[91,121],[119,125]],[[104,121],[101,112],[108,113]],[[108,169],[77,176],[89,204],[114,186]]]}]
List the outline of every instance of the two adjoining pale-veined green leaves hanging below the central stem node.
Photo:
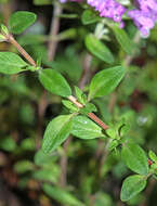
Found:
[{"label": "two adjoining pale-veined green leaves hanging below the central stem node", "polygon": [[102,129],[86,116],[61,115],[48,125],[42,142],[44,153],[53,152],[69,134],[81,139],[104,137]]}]

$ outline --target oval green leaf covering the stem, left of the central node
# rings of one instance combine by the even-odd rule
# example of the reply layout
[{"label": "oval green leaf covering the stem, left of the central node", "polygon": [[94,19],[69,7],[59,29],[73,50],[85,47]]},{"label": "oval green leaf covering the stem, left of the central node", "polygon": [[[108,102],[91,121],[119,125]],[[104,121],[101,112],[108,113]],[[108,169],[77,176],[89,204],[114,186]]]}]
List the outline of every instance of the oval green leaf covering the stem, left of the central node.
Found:
[{"label": "oval green leaf covering the stem, left of the central node", "polygon": [[65,78],[54,69],[42,69],[39,73],[40,82],[43,87],[57,95],[68,96],[71,94],[71,90]]}]

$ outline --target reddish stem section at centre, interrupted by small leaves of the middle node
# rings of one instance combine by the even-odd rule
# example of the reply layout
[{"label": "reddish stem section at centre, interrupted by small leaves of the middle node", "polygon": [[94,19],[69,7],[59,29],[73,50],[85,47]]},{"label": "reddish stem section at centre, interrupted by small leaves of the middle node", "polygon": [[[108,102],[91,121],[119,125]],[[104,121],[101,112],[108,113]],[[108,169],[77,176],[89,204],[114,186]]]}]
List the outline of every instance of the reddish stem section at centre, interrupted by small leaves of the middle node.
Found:
[{"label": "reddish stem section at centre, interrupted by small leaves of the middle node", "polygon": [[[77,101],[77,99],[73,95],[68,96],[68,100],[71,101],[76,106],[82,108],[83,105]],[[108,126],[104,124],[95,114],[89,113],[88,117],[90,117],[93,121],[95,121],[99,126],[101,126],[104,130],[108,129]]]}]

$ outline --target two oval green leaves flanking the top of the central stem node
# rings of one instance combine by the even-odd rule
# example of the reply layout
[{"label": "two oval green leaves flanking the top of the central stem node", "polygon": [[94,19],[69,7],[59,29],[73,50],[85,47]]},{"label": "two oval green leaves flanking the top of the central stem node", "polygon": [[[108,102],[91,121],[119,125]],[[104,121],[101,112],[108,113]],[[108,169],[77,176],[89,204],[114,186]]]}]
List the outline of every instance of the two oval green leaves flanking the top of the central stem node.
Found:
[{"label": "two oval green leaves flanking the top of the central stem node", "polygon": [[[89,100],[109,94],[123,76],[125,69],[121,66],[115,66],[97,73],[90,83]],[[39,74],[39,79],[48,91],[64,98],[71,95],[69,85],[56,70],[43,69]]]}]

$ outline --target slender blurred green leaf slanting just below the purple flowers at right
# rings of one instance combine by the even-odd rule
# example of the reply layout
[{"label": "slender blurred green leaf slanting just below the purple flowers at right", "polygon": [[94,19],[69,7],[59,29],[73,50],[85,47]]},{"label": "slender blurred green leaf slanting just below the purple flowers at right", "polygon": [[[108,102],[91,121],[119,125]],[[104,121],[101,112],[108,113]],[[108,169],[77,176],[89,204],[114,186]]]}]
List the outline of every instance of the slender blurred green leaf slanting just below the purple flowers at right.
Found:
[{"label": "slender blurred green leaf slanting just below the purple flowers at right", "polygon": [[128,53],[132,54],[135,49],[135,44],[133,41],[128,37],[127,33],[119,28],[118,26],[113,26],[112,27],[114,30],[114,34],[116,36],[117,41],[119,44],[122,47],[122,49]]}]

